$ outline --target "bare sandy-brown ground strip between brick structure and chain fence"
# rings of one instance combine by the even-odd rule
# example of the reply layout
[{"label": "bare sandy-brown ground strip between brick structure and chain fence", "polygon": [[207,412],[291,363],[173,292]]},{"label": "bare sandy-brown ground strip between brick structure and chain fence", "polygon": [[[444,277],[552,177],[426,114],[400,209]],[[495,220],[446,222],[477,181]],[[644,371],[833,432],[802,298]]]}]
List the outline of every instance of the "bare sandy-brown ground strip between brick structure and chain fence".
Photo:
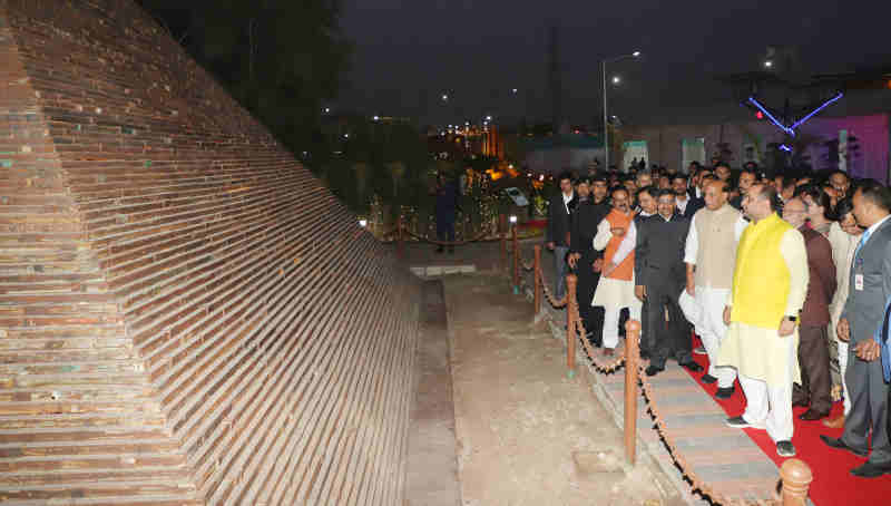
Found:
[{"label": "bare sandy-brown ground strip between brick structure and chain fence", "polygon": [[658,466],[624,465],[609,409],[505,278],[443,281],[466,506],[683,504]]}]

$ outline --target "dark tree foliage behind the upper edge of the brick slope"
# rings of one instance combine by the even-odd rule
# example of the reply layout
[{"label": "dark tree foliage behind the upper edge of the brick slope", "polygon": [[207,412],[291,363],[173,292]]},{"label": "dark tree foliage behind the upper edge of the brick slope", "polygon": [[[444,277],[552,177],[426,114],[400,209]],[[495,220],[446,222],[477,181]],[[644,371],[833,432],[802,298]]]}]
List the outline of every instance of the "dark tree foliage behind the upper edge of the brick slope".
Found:
[{"label": "dark tree foliage behind the upper edge of the brick slope", "polygon": [[352,52],[339,0],[139,3],[284,146],[317,164],[327,159],[320,116]]}]

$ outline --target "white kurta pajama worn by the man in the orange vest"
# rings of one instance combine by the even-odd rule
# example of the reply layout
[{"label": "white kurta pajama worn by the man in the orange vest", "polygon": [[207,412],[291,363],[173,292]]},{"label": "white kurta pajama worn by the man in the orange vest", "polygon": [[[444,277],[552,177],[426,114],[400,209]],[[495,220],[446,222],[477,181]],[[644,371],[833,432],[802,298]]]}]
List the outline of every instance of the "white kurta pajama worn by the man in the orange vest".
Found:
[{"label": "white kurta pajama worn by the man in the orange vest", "polygon": [[[634,221],[625,233],[625,239],[616,251],[613,261],[616,265],[620,264],[634,250],[637,228],[634,226]],[[603,250],[607,246],[613,239],[610,232],[610,224],[607,220],[603,220],[597,225],[597,235],[594,236],[594,249]],[[630,247],[627,244],[631,244]],[[606,267],[606,265],[604,265]],[[634,276],[631,276],[634,280]],[[597,282],[597,291],[594,293],[591,305],[600,305],[604,308],[604,348],[616,348],[619,344],[619,313],[623,308],[628,308],[629,317],[631,320],[640,321],[640,302],[634,295],[634,281],[616,280],[600,276]]]}]

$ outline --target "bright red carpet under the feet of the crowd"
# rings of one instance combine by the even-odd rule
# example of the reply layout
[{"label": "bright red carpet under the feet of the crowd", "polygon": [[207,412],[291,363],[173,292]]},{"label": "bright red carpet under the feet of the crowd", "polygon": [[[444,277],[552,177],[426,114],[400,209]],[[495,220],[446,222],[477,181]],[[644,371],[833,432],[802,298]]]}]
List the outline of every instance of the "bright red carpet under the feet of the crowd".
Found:
[{"label": "bright red carpet under the feet of the crowd", "polygon": [[[699,346],[698,338],[694,338],[694,348]],[[708,357],[704,354],[693,356],[705,370],[708,370]],[[686,370],[686,369],[684,369]],[[689,371],[687,371],[689,372]],[[721,405],[727,416],[740,416],[745,410],[745,396],[743,396],[742,388],[737,381],[734,386],[736,391],[730,399],[715,399],[715,390],[717,383],[705,385],[701,378],[703,372],[689,372],[689,374],[699,383],[712,398]],[[835,402],[832,406],[832,413],[830,417],[835,417],[843,411],[841,402]],[[852,476],[849,470],[862,465],[866,461],[865,458],[856,457],[844,450],[836,450],[828,447],[820,440],[820,435],[831,437],[840,437],[842,429],[829,429],[823,426],[821,420],[817,421],[803,421],[799,419],[799,415],[805,411],[805,408],[794,408],[795,413],[795,432],[792,437],[792,444],[795,445],[797,451],[796,458],[804,460],[811,466],[814,474],[814,480],[811,484],[811,500],[816,506],[845,506],[845,505],[891,505],[891,476],[885,475],[879,478],[859,478]],[[765,430],[743,429],[752,438],[755,444],[761,447],[762,451],[767,455],[776,466],[781,466],[783,457],[776,455],[776,445],[767,436]]]}]

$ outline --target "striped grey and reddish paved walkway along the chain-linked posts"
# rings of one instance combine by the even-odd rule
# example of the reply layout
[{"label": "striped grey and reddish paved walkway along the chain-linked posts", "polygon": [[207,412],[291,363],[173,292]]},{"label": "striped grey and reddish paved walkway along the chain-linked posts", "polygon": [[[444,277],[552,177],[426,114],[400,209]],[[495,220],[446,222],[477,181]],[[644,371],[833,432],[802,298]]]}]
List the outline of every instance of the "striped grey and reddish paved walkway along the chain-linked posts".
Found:
[{"label": "striped grey and reddish paved walkway along the chain-linked posts", "polygon": [[[523,257],[532,259],[532,242],[521,247]],[[542,253],[545,276],[554,280],[554,261],[551,253]],[[523,273],[526,286],[531,286],[531,273]],[[566,313],[556,310],[547,302],[545,319],[549,322],[556,341],[564,347]],[[576,357],[578,369],[587,370],[587,358],[579,346]],[[598,350],[599,351],[599,350]],[[565,348],[562,350],[565,352]],[[603,358],[608,362],[607,358]],[[624,409],[624,369],[619,373],[601,374],[590,372],[587,376],[598,398],[610,407],[616,422],[621,426]],[[669,362],[663,373],[649,379],[656,393],[656,402],[667,427],[675,435],[677,449],[684,455],[694,473],[711,487],[726,497],[763,499],[768,498],[776,485],[779,469],[776,465],[742,430],[731,429],[724,425],[727,416],[691,376],[674,362]],[[638,437],[647,453],[672,475],[678,488],[686,492],[691,504],[706,504],[698,496],[692,496],[689,486],[683,479],[664,442],[655,429],[653,419],[646,409],[643,397],[638,401]]]}]

